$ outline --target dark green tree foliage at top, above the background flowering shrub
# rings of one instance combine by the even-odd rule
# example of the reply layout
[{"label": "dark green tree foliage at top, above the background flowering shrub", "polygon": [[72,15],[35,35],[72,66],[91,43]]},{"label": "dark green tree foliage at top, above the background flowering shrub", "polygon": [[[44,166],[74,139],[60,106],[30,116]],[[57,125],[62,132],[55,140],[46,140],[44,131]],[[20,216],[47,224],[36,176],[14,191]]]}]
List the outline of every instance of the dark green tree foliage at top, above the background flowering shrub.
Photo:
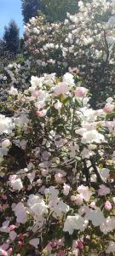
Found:
[{"label": "dark green tree foliage at top, above the background flowering shrub", "polygon": [[49,22],[63,21],[66,13],[78,12],[78,0],[21,0],[24,22],[41,13]]}]

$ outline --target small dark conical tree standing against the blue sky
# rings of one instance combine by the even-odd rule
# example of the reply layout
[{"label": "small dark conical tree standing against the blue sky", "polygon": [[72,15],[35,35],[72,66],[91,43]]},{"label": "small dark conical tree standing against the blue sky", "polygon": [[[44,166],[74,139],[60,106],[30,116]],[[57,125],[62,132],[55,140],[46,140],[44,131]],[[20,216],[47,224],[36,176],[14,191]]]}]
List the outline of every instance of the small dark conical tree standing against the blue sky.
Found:
[{"label": "small dark conical tree standing against the blue sky", "polygon": [[14,20],[9,22],[9,26],[4,27],[3,40],[5,50],[16,55],[20,50],[20,30]]}]

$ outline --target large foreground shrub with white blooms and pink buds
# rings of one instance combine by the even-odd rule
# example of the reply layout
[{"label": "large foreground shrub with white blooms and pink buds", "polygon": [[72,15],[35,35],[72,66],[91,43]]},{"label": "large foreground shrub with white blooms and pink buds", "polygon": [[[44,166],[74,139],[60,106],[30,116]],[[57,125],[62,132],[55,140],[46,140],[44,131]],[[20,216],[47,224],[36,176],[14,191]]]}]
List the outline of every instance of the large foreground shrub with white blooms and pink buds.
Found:
[{"label": "large foreground shrub with white blooms and pink buds", "polygon": [[0,255],[114,255],[114,99],[93,110],[72,73],[6,95]]}]

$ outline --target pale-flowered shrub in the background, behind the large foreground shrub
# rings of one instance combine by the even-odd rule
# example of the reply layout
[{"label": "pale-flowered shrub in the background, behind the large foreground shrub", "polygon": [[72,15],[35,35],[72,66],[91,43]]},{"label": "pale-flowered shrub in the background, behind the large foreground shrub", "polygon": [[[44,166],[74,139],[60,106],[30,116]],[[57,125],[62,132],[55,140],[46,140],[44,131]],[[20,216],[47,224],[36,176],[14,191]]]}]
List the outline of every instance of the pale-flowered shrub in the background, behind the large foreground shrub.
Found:
[{"label": "pale-flowered shrub in the background, behind the large foreground shrub", "polygon": [[77,15],[49,24],[32,18],[26,25],[26,52],[37,74],[66,73],[69,67],[93,93],[92,104],[103,104],[114,89],[114,1],[79,1]]}]

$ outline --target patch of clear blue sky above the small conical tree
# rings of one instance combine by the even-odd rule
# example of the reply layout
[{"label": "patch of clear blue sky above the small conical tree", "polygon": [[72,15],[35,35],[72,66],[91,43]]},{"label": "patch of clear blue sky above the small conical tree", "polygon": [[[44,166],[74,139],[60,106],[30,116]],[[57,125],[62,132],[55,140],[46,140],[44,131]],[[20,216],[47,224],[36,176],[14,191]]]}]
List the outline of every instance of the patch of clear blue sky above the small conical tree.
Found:
[{"label": "patch of clear blue sky above the small conical tree", "polygon": [[20,27],[20,35],[22,35],[23,17],[20,8],[20,0],[0,0],[0,38],[3,36],[4,26],[7,26],[10,20],[16,21]]}]

